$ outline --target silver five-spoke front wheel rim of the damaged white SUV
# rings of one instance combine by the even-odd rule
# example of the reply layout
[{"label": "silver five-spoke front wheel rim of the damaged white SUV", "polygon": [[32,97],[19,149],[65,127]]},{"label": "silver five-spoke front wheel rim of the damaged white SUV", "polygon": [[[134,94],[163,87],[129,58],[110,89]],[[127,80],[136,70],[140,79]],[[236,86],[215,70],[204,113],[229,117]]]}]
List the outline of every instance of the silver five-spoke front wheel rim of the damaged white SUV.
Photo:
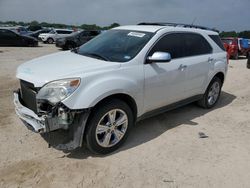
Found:
[{"label": "silver five-spoke front wheel rim of the damaged white SUV", "polygon": [[121,109],[113,109],[107,112],[96,127],[96,141],[105,148],[119,143],[128,128],[128,116]]}]

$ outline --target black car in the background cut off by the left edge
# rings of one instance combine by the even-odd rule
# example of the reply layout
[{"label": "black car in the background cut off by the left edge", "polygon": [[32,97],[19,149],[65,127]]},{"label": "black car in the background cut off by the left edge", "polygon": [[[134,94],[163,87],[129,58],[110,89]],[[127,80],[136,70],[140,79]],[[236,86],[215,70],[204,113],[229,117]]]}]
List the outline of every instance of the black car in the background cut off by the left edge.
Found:
[{"label": "black car in the background cut off by the left edge", "polygon": [[0,28],[0,46],[38,46],[38,40],[9,29]]}]

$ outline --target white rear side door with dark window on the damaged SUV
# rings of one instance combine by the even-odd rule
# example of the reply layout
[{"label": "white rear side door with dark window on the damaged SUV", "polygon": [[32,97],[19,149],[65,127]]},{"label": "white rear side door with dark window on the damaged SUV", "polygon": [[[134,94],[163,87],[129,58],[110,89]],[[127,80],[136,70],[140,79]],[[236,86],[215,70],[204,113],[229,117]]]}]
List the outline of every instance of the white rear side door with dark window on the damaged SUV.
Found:
[{"label": "white rear side door with dark window on the damaged SUV", "polygon": [[201,94],[207,81],[209,63],[214,61],[212,47],[208,41],[197,33],[183,33],[183,46],[185,53],[187,97]]}]

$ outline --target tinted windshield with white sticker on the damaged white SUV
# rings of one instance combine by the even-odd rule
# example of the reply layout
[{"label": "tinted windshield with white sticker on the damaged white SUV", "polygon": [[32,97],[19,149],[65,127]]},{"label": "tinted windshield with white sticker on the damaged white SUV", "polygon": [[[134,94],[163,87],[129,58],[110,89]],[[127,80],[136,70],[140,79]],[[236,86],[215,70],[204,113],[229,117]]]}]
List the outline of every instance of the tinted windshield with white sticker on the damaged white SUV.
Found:
[{"label": "tinted windshield with white sticker on the damaged white SUV", "polygon": [[74,52],[112,62],[133,59],[151,39],[153,33],[110,30],[100,34]]}]

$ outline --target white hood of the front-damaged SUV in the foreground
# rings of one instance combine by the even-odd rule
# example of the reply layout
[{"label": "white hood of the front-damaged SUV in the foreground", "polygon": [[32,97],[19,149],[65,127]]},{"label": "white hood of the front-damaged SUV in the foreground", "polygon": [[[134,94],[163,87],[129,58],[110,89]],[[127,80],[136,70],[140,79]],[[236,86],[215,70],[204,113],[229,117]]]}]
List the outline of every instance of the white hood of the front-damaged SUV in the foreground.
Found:
[{"label": "white hood of the front-damaged SUV in the foreground", "polygon": [[16,77],[35,87],[65,78],[83,78],[84,74],[120,67],[120,63],[94,59],[70,51],[39,57],[20,65]]}]

